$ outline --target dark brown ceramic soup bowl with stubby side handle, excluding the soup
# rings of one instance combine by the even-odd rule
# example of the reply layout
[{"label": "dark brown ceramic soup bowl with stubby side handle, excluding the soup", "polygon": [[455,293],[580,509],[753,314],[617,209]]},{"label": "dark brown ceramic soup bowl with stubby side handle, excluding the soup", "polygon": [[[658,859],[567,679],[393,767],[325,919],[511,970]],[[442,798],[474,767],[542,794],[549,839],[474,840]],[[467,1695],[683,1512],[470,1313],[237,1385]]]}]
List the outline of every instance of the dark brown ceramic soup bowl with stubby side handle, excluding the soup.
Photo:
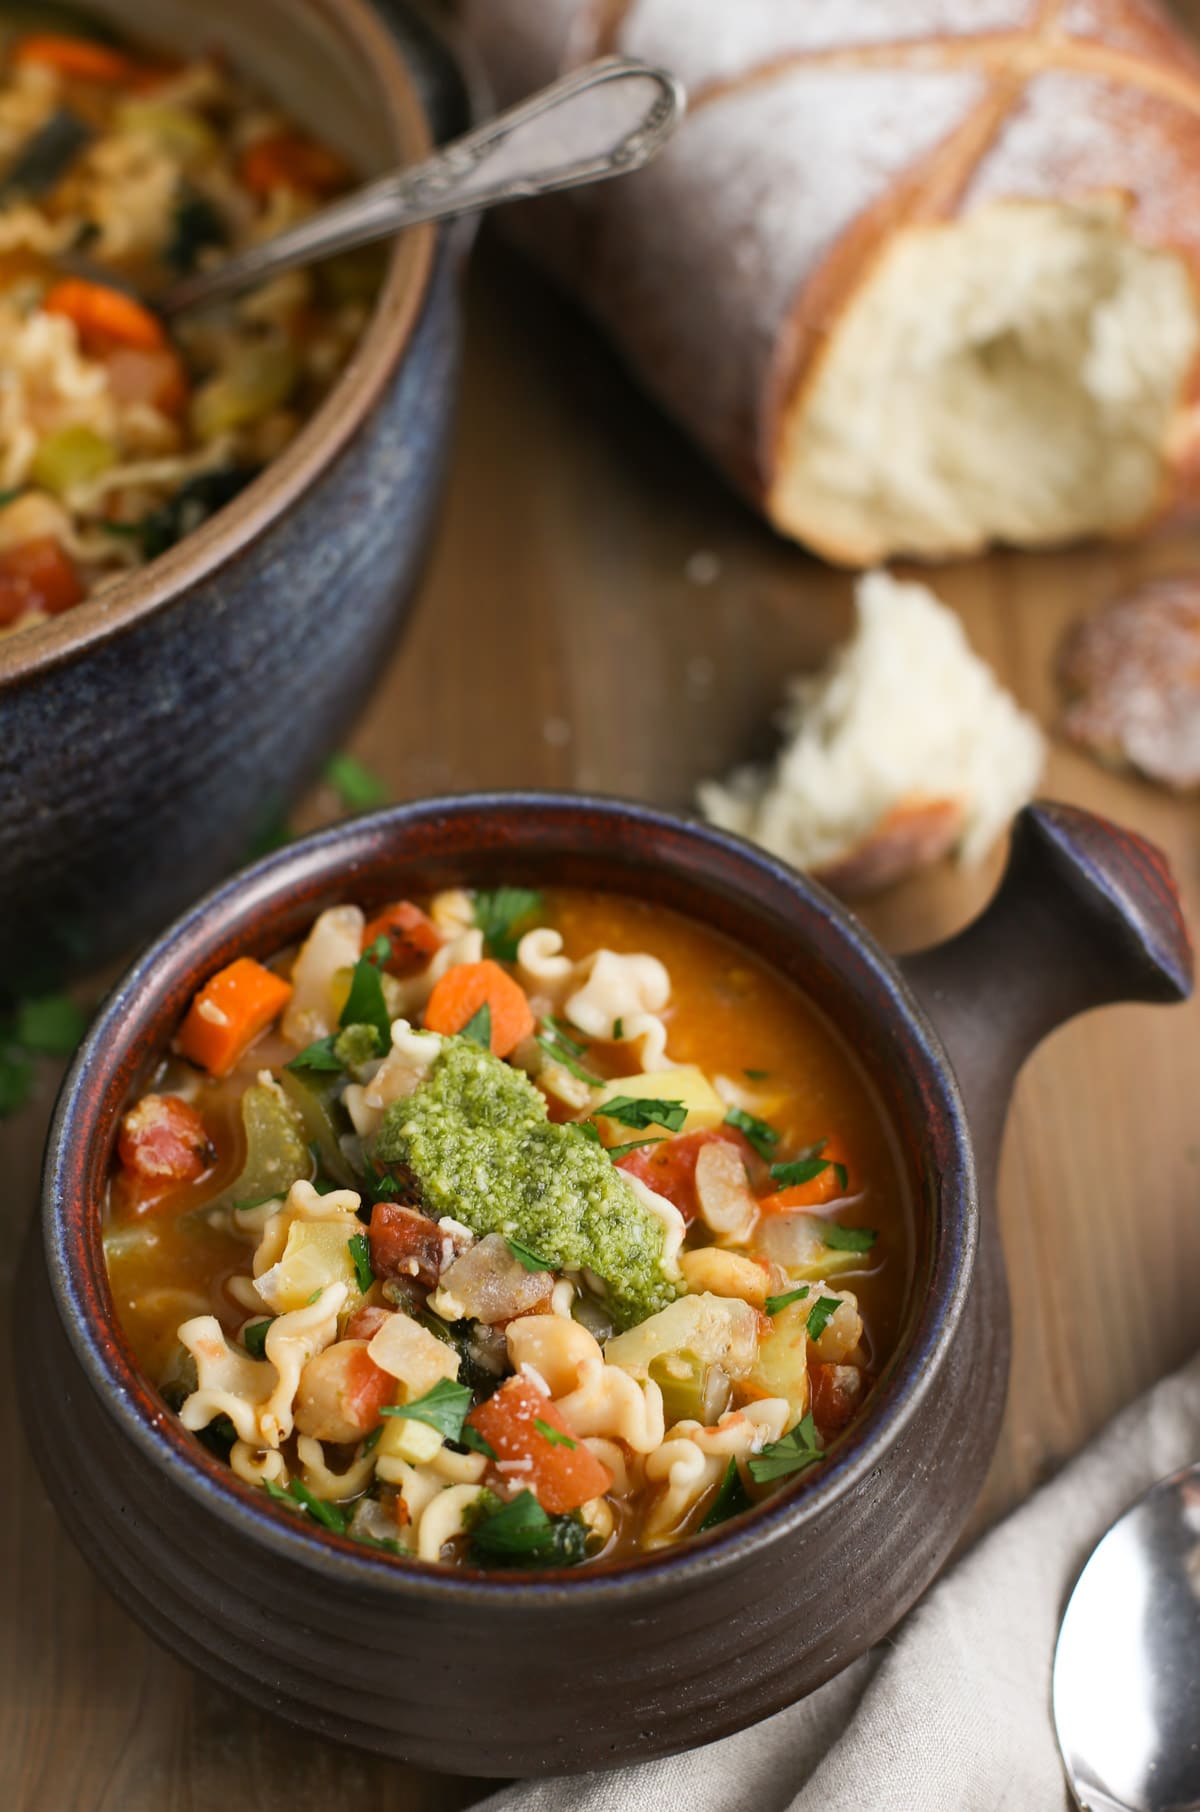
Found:
[{"label": "dark brown ceramic soup bowl with stubby side handle, excluding the soup", "polygon": [[[100,1243],[121,1109],[199,982],[346,897],[370,908],[500,881],[658,901],[794,980],[870,1076],[917,1218],[897,1350],[819,1471],[707,1537],[575,1576],[388,1560],[277,1511],[138,1373]],[[141,957],[63,1085],[16,1296],[25,1426],[51,1497],[154,1636],[306,1729],[479,1774],[602,1769],[736,1730],[881,1638],[975,1502],[1010,1343],[981,1196],[1022,1056],[1073,1013],[1178,1000],[1189,984],[1158,853],[1066,806],[1024,812],[984,915],[906,964],[749,844],[615,801],[444,799],[299,843]]]}]

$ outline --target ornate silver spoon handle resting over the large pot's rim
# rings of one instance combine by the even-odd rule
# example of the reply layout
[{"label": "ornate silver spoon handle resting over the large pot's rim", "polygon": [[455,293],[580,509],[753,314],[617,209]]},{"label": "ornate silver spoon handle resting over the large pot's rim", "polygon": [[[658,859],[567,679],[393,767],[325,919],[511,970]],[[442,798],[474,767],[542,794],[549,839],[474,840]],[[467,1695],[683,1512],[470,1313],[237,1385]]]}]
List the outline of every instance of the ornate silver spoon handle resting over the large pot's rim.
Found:
[{"label": "ornate silver spoon handle resting over the large pot's rim", "polygon": [[263,245],[170,286],[160,313],[236,295],[295,265],[451,219],[622,176],[647,163],[683,118],[685,94],[665,69],[605,56],[540,89],[426,163],[384,176]]}]

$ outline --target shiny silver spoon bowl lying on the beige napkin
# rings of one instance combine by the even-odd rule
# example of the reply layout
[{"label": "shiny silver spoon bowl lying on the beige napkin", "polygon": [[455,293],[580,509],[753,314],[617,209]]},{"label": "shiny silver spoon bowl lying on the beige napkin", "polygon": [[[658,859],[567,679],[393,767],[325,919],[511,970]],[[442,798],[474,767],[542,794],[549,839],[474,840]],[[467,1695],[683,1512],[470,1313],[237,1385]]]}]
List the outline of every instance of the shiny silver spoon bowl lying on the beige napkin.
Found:
[{"label": "shiny silver spoon bowl lying on the beige napkin", "polygon": [[1088,1560],[1053,1707],[1086,1812],[1200,1808],[1200,1466],[1153,1486]]}]

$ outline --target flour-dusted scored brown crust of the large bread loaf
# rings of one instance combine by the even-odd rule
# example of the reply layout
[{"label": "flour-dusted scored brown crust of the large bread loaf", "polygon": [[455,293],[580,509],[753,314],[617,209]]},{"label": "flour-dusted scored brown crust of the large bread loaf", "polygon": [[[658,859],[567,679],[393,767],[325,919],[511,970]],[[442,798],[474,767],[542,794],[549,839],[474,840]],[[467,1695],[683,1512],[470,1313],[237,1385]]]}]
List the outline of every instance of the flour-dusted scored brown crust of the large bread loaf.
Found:
[{"label": "flour-dusted scored brown crust of the large bread loaf", "polygon": [[[517,234],[789,533],[789,428],[903,230],[997,201],[1115,201],[1135,243],[1182,259],[1200,319],[1200,54],[1153,0],[466,0],[466,16],[500,103],[609,51],[685,80],[689,116],[653,165],[524,210]],[[1124,533],[1200,500],[1198,404],[1193,359],[1160,491]],[[803,536],[852,565],[899,551]]]}]

